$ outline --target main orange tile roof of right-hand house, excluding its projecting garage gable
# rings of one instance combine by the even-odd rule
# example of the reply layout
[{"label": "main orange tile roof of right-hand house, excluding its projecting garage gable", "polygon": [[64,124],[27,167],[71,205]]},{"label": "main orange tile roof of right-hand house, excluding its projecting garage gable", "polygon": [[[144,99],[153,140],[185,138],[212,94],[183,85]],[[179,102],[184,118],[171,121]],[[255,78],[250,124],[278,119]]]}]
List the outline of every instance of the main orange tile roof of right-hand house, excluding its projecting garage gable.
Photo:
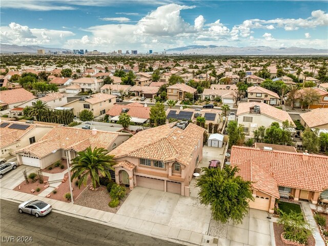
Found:
[{"label": "main orange tile roof of right-hand house, excluding its projecting garage gable", "polygon": [[280,186],[317,192],[328,188],[327,156],[232,146],[232,165],[239,166],[250,160],[273,176]]}]

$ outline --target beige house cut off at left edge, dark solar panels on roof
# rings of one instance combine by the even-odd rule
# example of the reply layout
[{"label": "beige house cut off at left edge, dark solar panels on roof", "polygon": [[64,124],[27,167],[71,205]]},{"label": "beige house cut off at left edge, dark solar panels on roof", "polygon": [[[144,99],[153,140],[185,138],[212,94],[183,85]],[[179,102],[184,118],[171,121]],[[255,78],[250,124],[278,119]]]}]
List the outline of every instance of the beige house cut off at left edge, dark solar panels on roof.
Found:
[{"label": "beige house cut off at left edge, dark solar panels on roof", "polygon": [[0,122],[1,157],[13,155],[15,150],[35,143],[52,129],[53,126],[27,124],[17,121]]}]

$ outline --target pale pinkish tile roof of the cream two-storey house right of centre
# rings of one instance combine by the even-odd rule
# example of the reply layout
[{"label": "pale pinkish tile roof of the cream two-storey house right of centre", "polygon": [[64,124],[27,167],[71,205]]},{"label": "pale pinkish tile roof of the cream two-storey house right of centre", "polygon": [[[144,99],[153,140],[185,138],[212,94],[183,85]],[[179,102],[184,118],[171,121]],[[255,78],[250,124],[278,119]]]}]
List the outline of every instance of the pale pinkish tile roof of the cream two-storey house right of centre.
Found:
[{"label": "pale pinkish tile roof of the cream two-storey house right of centre", "polygon": [[[249,103],[239,103],[237,109],[237,116],[243,115],[244,113],[249,113],[251,108],[254,108],[254,105],[260,106],[260,113],[262,115],[269,116],[278,121],[285,121],[288,120],[289,122],[293,122],[292,118],[288,114],[288,112],[283,111],[281,109],[275,108],[270,106],[266,103],[259,103],[259,102],[249,102]],[[295,124],[294,124],[295,126]]]}]

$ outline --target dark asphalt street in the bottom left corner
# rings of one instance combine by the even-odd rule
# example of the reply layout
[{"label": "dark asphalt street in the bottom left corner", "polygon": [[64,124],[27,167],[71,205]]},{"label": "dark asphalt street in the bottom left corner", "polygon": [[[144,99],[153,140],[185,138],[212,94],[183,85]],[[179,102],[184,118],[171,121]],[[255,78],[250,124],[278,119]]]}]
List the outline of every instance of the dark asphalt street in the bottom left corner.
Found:
[{"label": "dark asphalt street in the bottom left corner", "polygon": [[180,245],[54,211],[36,218],[19,214],[18,203],[0,203],[1,245]]}]

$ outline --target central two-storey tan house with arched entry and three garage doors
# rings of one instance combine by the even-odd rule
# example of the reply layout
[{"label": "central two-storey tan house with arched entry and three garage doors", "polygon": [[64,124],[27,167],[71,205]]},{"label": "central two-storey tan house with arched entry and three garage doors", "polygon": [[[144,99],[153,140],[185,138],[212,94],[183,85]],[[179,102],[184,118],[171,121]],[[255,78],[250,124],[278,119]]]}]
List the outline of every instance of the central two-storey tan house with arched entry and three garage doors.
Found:
[{"label": "central two-storey tan house with arched entry and three garage doors", "polygon": [[194,169],[202,159],[204,129],[190,123],[184,130],[176,122],[139,131],[112,150],[115,181],[189,196]]}]

